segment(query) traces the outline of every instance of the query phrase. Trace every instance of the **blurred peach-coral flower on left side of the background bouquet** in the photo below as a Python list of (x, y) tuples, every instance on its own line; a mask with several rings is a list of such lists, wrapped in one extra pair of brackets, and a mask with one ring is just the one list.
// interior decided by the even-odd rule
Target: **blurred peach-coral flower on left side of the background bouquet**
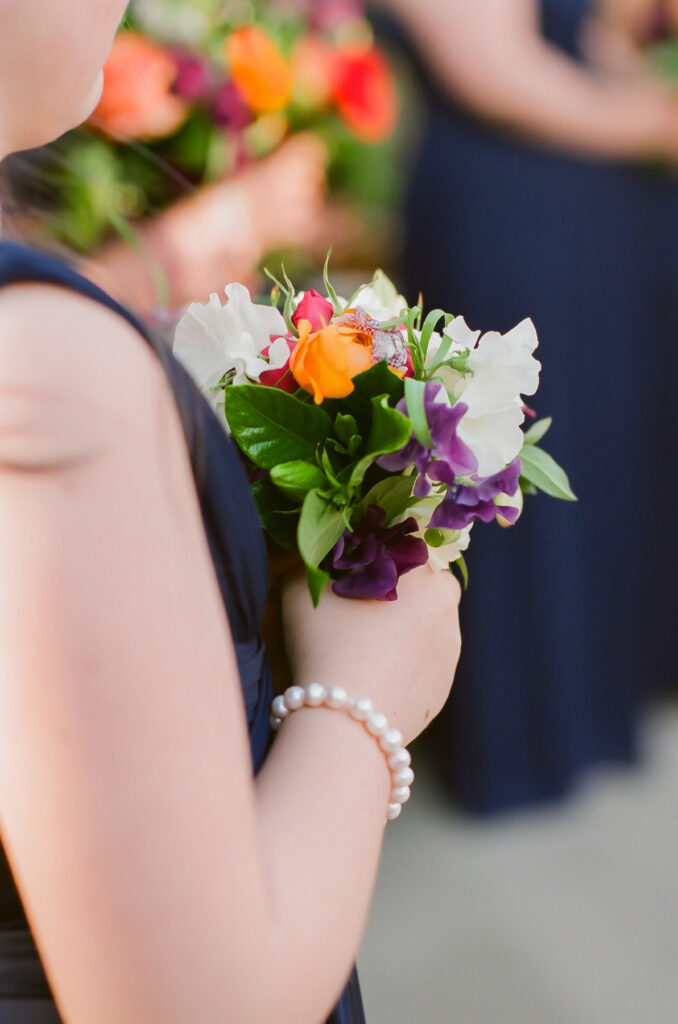
[(103, 68), (103, 92), (93, 124), (113, 136), (163, 138), (177, 130), (188, 104), (172, 93), (171, 53), (135, 32), (116, 37)]

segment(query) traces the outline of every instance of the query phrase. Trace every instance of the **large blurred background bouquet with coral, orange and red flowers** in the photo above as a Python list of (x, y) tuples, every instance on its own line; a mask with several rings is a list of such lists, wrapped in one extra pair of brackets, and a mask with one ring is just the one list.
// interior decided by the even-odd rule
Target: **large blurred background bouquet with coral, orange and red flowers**
[[(388, 63), (353, 0), (133, 0), (84, 127), (41, 160), (46, 233), (94, 252), (187, 190), (311, 131), (358, 191), (393, 132)], [(377, 155), (373, 159), (379, 159)]]

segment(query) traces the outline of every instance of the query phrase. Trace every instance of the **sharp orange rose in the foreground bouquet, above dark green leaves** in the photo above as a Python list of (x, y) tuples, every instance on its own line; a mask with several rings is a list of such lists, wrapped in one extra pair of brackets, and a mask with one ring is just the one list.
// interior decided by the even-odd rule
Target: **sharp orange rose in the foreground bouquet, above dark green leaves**
[(299, 341), (290, 357), (297, 383), (313, 396), (316, 406), (326, 398), (345, 398), (353, 390), (353, 377), (372, 366), (372, 342), (362, 331), (330, 324), (311, 332), (308, 321), (299, 321)]

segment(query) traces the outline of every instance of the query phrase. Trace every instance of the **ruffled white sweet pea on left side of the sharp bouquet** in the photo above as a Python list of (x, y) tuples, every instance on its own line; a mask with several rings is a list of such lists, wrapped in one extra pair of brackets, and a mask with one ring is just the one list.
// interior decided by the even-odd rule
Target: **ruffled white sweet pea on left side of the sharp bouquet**
[[(205, 304), (189, 305), (174, 335), (174, 354), (205, 392), (230, 371), (234, 384), (247, 384), (258, 381), (265, 370), (284, 367), (289, 357), (284, 341), (270, 342), (272, 336), (287, 334), (278, 309), (255, 305), (244, 285), (227, 285), (225, 293), (225, 305), (216, 294)], [(268, 345), (266, 360), (261, 352)]]

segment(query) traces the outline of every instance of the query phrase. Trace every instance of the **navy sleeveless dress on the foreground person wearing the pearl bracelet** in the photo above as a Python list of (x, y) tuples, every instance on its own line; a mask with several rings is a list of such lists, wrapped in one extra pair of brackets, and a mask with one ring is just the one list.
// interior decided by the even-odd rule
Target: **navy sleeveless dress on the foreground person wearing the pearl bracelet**
[[(163, 362), (181, 412), (205, 531), (236, 646), (256, 771), (268, 750), (273, 697), (270, 668), (258, 635), (266, 603), (268, 569), (263, 534), (238, 453), (169, 348), (162, 343), (154, 344), (149, 329), (129, 311), (57, 261), (10, 243), (0, 243), (0, 288), (19, 282), (59, 285), (101, 303), (131, 324), (146, 344), (153, 344)], [(224, 1024), (230, 1022), (227, 1007), (223, 1008), (221, 1020)], [(58, 1022), (0, 846), (0, 1024)], [(355, 972), (328, 1024), (365, 1024)]]

